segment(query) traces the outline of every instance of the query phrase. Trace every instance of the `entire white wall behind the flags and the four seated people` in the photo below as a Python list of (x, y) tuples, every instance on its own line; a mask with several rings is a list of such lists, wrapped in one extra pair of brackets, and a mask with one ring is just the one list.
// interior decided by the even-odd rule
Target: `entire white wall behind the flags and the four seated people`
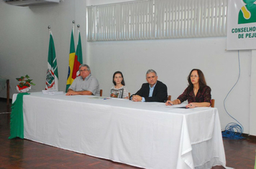
[[(122, 0), (125, 1), (125, 0)], [(108, 0), (107, 3), (121, 2)], [(86, 4), (104, 4), (106, 0), (64, 0), (60, 4), (18, 7), (0, 1), (0, 76), (10, 79), (11, 93), (16, 92), (15, 77), (29, 74), (37, 84), (31, 92), (45, 88), (49, 33), (52, 27), (58, 59), (59, 89), (65, 90), (72, 21), (81, 25), (83, 61), (91, 66), (104, 95), (109, 95), (116, 70), (124, 73), (131, 93), (145, 82), (147, 69), (155, 69), (158, 79), (168, 85), (175, 99), (187, 86), (186, 77), (193, 68), (201, 69), (211, 87), (219, 110), (221, 127), (234, 122), (223, 102), (238, 77), (237, 51), (226, 51), (226, 37), (200, 39), (165, 39), (128, 42), (86, 42)], [(240, 52), (241, 76), (227, 98), (229, 113), (250, 133), (250, 50)], [(6, 97), (5, 92), (0, 97)], [(251, 110), (252, 111), (252, 110)]]

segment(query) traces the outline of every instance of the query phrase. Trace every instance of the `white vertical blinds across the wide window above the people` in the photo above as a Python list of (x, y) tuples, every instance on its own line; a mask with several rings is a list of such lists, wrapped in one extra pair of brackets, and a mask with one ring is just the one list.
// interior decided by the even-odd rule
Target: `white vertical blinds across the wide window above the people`
[(224, 37), (227, 0), (147, 0), (88, 6), (88, 41)]

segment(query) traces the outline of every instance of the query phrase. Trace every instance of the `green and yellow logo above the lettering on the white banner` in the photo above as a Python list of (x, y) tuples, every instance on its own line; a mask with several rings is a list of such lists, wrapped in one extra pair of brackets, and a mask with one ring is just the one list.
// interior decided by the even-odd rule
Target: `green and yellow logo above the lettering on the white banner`
[(245, 5), (239, 11), (238, 24), (256, 22), (256, 1), (243, 0)]

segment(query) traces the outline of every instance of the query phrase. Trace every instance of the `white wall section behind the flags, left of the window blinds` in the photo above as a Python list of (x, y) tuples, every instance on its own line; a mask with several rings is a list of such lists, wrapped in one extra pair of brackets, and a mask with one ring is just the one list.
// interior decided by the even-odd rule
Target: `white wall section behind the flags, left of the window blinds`
[[(29, 7), (0, 1), (0, 14), (0, 76), (10, 79), (11, 94), (17, 92), (15, 78), (26, 74), (36, 84), (31, 92), (45, 89), (49, 25), (55, 42), (59, 88), (64, 90), (72, 21), (81, 25), (81, 34), (86, 37), (86, 1), (65, 0), (60, 4)], [(82, 39), (82, 45), (86, 51), (86, 39)], [(6, 97), (6, 92), (1, 92), (0, 97)]]

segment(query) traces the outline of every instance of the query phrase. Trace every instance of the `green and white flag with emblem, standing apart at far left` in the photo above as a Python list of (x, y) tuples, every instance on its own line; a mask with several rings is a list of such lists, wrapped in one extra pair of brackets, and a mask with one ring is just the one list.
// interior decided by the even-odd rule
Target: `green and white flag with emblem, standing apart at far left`
[(58, 91), (58, 67), (57, 67), (57, 59), (56, 59), (55, 47), (54, 47), (54, 42), (53, 42), (51, 31), (50, 31), (50, 42), (49, 42), (49, 51), (48, 51), (45, 90), (57, 90)]

